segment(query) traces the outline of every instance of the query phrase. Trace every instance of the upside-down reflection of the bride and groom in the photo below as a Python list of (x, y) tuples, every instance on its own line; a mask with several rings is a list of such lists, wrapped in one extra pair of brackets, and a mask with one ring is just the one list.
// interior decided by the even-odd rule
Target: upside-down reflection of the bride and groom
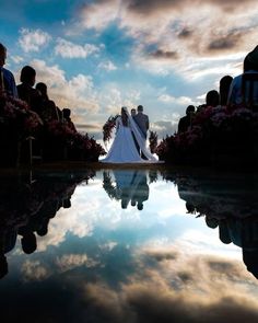
[(143, 204), (149, 199), (150, 181), (150, 173), (143, 170), (103, 172), (103, 188), (112, 199), (120, 200), (122, 209), (129, 205), (138, 210), (143, 209)]

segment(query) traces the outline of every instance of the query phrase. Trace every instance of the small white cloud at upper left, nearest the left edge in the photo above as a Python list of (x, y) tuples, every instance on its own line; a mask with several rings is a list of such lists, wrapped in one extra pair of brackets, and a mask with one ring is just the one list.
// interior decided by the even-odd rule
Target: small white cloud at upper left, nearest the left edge
[(39, 51), (51, 39), (51, 36), (42, 30), (21, 28), (20, 34), (19, 44), (25, 53)]

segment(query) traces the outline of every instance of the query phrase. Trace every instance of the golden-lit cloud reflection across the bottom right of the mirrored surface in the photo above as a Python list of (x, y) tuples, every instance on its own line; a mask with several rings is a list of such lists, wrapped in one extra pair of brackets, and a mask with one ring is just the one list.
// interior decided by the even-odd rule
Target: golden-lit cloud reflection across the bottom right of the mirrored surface
[[(136, 273), (114, 289), (105, 281), (84, 285), (96, 320), (107, 322), (215, 323), (257, 321), (257, 281), (239, 263), (174, 250), (140, 252)], [(243, 285), (244, 284), (244, 285)], [(93, 309), (98, 309), (96, 312)]]

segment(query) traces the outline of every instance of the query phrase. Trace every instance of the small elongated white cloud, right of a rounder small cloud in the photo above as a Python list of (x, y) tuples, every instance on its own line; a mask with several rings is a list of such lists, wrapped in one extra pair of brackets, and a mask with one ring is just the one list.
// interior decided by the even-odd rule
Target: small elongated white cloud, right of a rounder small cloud
[(99, 47), (95, 45), (85, 44), (81, 46), (62, 38), (57, 39), (57, 45), (55, 47), (55, 54), (63, 58), (86, 58), (89, 55), (98, 51)]

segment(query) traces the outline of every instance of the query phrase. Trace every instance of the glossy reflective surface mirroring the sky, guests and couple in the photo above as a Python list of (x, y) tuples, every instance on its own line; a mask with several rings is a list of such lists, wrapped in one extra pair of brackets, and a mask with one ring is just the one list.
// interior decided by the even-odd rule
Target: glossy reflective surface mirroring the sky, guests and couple
[(1, 322), (258, 322), (258, 176), (1, 175)]

